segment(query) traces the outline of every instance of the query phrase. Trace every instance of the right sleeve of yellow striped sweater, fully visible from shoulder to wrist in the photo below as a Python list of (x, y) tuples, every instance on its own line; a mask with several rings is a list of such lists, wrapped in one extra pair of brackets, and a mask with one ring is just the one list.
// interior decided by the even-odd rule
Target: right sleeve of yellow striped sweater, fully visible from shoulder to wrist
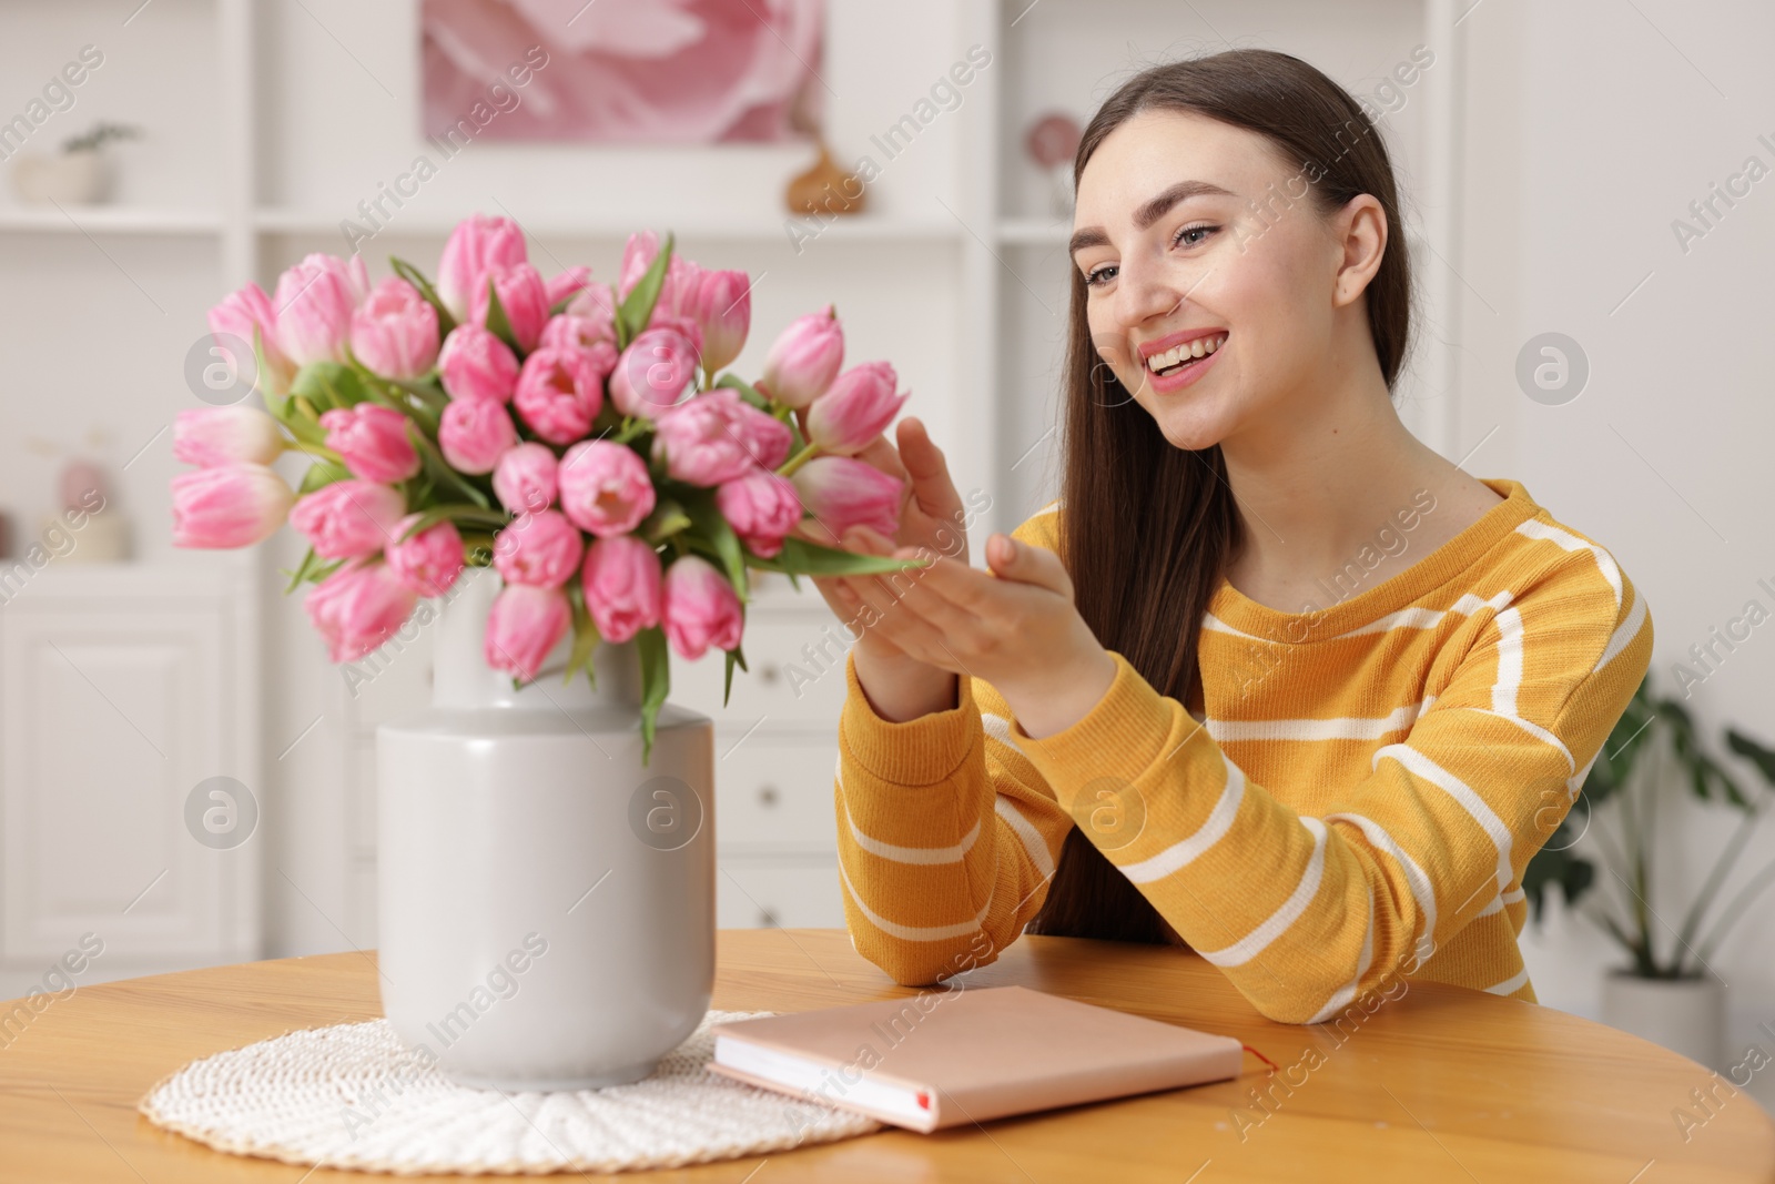
[[(1374, 751), (1367, 776), (1314, 793), (1328, 802), (1319, 817), (1248, 779), (1115, 651), (1115, 680), (1083, 719), (1040, 740), (1014, 722), (1010, 742), (1072, 817), (1081, 790), (1111, 786), (1136, 834), (1106, 843), (1081, 822), (1092, 841), (1258, 1012), (1321, 1022), (1519, 891), (1651, 644), (1645, 604), (1613, 559), (1566, 556), (1493, 596), (1443, 692)], [(1354, 738), (1363, 722), (1271, 728), (1278, 740)]]

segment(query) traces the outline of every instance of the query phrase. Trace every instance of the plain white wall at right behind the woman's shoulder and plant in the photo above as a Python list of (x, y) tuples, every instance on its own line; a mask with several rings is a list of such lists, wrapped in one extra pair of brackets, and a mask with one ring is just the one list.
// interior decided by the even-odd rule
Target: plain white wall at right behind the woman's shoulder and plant
[[(1471, 71), (1463, 451), (1496, 428), (1468, 470), (1523, 481), (1608, 547), (1647, 598), (1654, 687), (1672, 694), (1672, 664), (1708, 641), (1709, 627), (1750, 598), (1775, 607), (1757, 588), (1757, 579), (1775, 584), (1775, 405), (1763, 359), (1775, 320), (1775, 179), (1686, 254), (1670, 229), (1747, 156), (1775, 167), (1775, 151), (1755, 138), (1775, 140), (1763, 51), (1775, 12), (1724, 0), (1487, 0), (1463, 28)], [(1521, 344), (1548, 330), (1569, 334), (1590, 359), (1587, 389), (1564, 407), (1526, 399), (1514, 378)], [(1736, 726), (1775, 746), (1775, 628), (1755, 630), (1686, 705), (1709, 740)], [(1720, 744), (1713, 751), (1725, 756)], [(1747, 786), (1761, 785), (1738, 769)], [(1661, 827), (1670, 841), (1651, 900), (1670, 927), (1732, 820), (1674, 804), (1683, 808)], [(1743, 868), (1770, 857), (1775, 829), (1764, 825)], [(1740, 1049), (1775, 1015), (1771, 912), (1775, 896), (1713, 962)], [(1672, 928), (1660, 935), (1674, 941)], [(1525, 937), (1541, 999), (1594, 1015), (1599, 967), (1626, 959), (1562, 909)]]

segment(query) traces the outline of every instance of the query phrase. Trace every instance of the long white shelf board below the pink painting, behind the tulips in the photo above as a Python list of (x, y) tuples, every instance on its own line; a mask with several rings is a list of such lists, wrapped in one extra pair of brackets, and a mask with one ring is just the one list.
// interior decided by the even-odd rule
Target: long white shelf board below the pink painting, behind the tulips
[[(403, 217), (389, 222), (385, 233), (394, 236), (442, 238), (449, 234), (456, 222), (469, 217), (469, 213), (470, 211), (465, 209), (462, 215), (449, 218), (421, 215)], [(788, 225), (792, 218), (793, 215), (785, 211), (777, 218), (676, 222), (669, 229), (678, 238), (696, 238), (701, 241), (790, 241)], [(254, 211), (254, 229), (261, 234), (337, 234), (339, 222), (339, 217), (307, 209), (266, 206)], [(524, 220), (524, 229), (536, 238), (621, 240), (632, 231), (644, 229), (646, 225), (648, 222), (644, 218), (612, 220), (545, 215), (541, 218)], [(818, 229), (818, 238), (822, 241), (831, 238), (836, 241), (955, 243), (960, 241), (962, 233), (962, 227), (953, 220), (935, 222), (857, 215), (856, 218), (840, 217), (832, 220), (824, 229)]]

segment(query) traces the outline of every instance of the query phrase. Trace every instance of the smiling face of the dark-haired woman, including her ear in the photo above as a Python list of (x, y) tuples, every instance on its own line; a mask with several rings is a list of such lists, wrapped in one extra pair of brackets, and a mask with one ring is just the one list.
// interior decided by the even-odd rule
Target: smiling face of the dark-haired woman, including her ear
[(1326, 218), (1314, 179), (1264, 137), (1177, 110), (1132, 115), (1085, 165), (1072, 261), (1092, 343), (1173, 446), (1219, 444), (1324, 382), (1335, 316), (1372, 275), (1347, 266), (1351, 220), (1379, 202)]

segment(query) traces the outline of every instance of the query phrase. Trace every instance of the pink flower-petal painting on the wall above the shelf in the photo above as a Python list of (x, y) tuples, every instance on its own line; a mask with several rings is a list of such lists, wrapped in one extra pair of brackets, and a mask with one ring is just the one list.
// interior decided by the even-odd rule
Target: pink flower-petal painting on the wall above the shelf
[(825, 0), (422, 0), (431, 137), (790, 140), (820, 126)]

